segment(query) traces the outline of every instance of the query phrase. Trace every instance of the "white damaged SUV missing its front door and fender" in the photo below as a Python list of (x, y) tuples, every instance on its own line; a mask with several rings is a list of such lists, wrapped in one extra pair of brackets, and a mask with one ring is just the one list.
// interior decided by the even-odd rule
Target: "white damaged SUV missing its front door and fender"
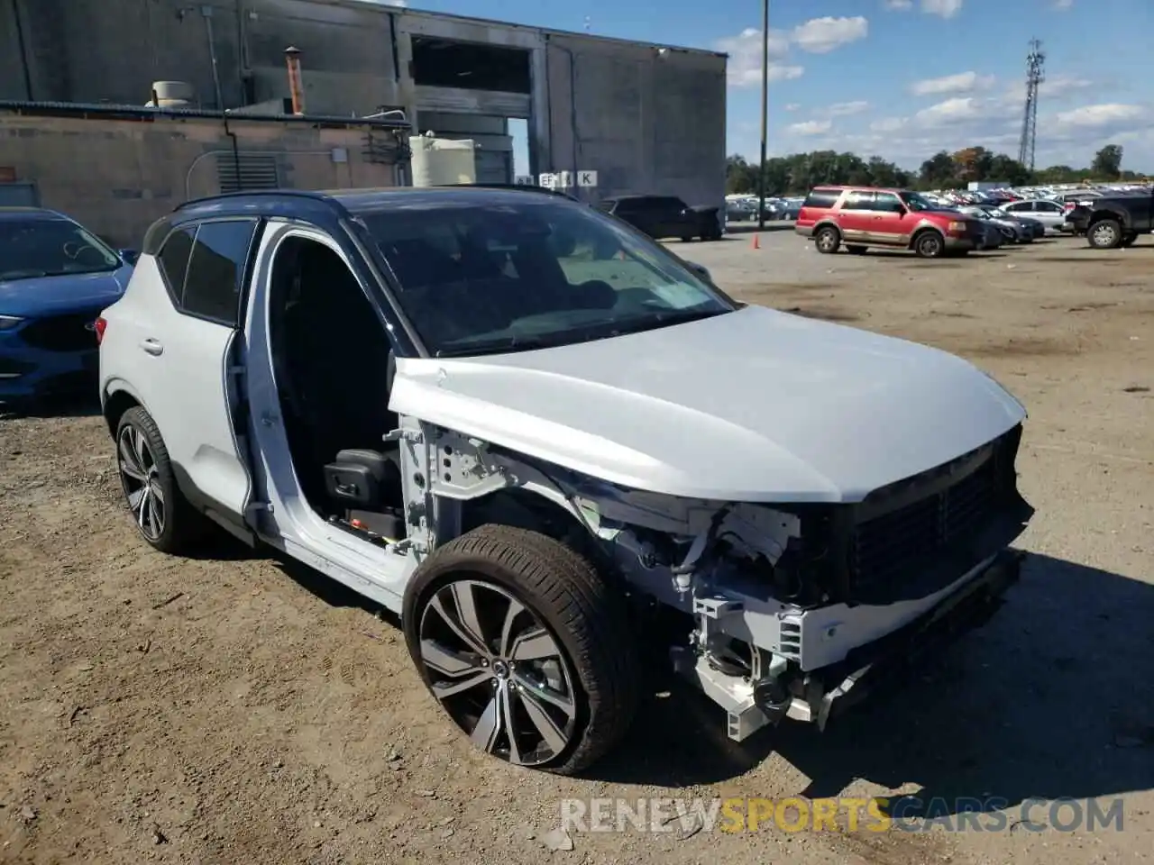
[(606, 753), (659, 639), (734, 739), (824, 727), (1018, 577), (1025, 411), (703, 273), (538, 191), (189, 202), (97, 325), (135, 524), (166, 552), (215, 524), (399, 614), (514, 764)]

